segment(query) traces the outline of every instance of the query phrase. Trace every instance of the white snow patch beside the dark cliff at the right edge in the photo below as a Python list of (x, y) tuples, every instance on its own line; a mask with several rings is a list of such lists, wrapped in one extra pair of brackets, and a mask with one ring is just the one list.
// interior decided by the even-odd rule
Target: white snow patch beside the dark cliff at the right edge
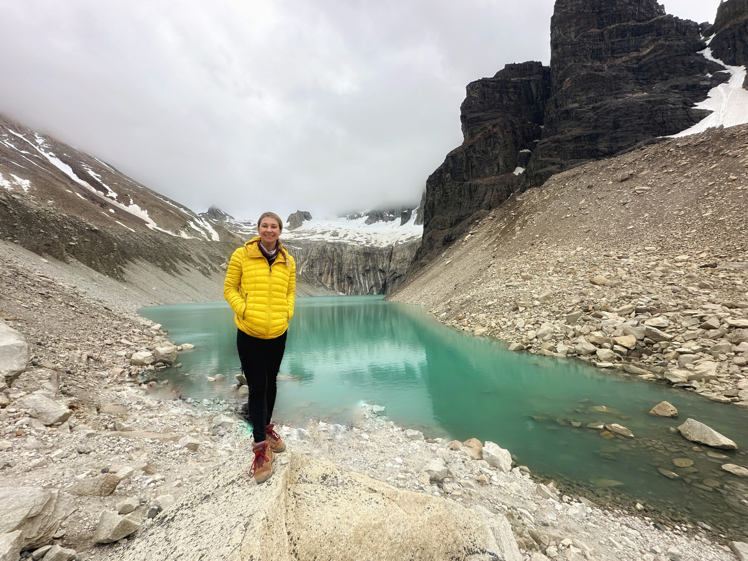
[(696, 135), (699, 132), (705, 132), (717, 126), (725, 128), (735, 125), (748, 123), (748, 91), (743, 88), (743, 82), (746, 78), (746, 67), (731, 67), (723, 63), (711, 54), (711, 49), (704, 49), (699, 54), (704, 55), (708, 61), (714, 61), (722, 64), (730, 73), (730, 79), (717, 88), (709, 91), (707, 99), (694, 105), (695, 108), (708, 109), (713, 111), (707, 117), (704, 117), (698, 123), (672, 135), (669, 138), (678, 138), (687, 135)]

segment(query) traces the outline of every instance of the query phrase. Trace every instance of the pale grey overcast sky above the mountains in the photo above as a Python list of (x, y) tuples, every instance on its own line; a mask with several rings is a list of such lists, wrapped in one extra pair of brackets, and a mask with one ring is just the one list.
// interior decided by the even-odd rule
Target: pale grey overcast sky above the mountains
[[(714, 21), (719, 0), (668, 0)], [(417, 203), (553, 0), (0, 0), (0, 111), (202, 212)]]

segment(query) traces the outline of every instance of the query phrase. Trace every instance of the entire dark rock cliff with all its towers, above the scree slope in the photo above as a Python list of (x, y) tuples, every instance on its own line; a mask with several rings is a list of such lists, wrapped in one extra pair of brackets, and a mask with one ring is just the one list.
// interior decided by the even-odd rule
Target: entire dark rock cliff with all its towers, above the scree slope
[[(744, 52), (747, 1), (720, 7), (715, 40), (724, 37), (736, 55)], [(654, 0), (557, 0), (550, 68), (509, 64), (468, 85), (465, 141), (426, 181), (423, 244), (411, 272), (512, 192), (702, 120), (708, 111), (693, 105), (729, 79), (699, 54), (706, 47), (699, 24)], [(515, 176), (515, 168), (526, 169)]]

